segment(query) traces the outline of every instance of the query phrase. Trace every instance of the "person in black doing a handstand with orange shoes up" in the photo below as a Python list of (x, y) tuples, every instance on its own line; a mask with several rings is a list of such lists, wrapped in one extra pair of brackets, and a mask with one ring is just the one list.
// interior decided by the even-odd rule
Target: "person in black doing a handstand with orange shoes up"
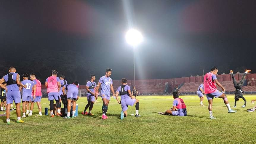
[(243, 78), (241, 79), (241, 81), (239, 83), (236, 82), (236, 79), (235, 79), (235, 77), (233, 75), (233, 71), (230, 70), (230, 72), (231, 72), (231, 76), (232, 76), (232, 79), (233, 79), (234, 87), (236, 88), (236, 92), (235, 92), (235, 105), (234, 105), (234, 107), (236, 107), (236, 101), (239, 101), (239, 99), (241, 98), (241, 99), (244, 100), (244, 105), (242, 105), (242, 108), (244, 108), (246, 106), (246, 99), (243, 96), (242, 87), (244, 85), (246, 74), (251, 72), (251, 70), (245, 70)]

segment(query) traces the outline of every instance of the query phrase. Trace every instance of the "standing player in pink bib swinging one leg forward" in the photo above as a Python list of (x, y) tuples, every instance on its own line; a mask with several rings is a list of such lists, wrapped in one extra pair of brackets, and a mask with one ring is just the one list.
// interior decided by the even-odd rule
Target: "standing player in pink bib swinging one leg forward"
[(224, 103), (226, 104), (227, 108), (228, 108), (228, 113), (235, 113), (236, 110), (232, 110), (230, 108), (230, 105), (228, 103), (228, 98), (226, 97), (226, 95), (224, 95), (222, 92), (220, 92), (219, 90), (217, 90), (217, 87), (215, 85), (215, 83), (222, 88), (222, 90), (225, 92), (225, 88), (219, 83), (219, 81), (217, 80), (216, 74), (218, 72), (218, 68), (213, 67), (211, 69), (211, 71), (209, 73), (206, 73), (204, 76), (204, 92), (206, 94), (209, 106), (208, 106), (208, 110), (210, 113), (210, 119), (216, 119), (215, 117), (213, 117), (212, 115), (212, 99), (215, 97), (219, 97), (219, 98), (223, 98)]

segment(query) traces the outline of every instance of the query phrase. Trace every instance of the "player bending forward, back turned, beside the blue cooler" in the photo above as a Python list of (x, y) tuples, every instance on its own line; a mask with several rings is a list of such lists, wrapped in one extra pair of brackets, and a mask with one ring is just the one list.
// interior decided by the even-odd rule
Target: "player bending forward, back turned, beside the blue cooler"
[(79, 82), (75, 81), (74, 84), (66, 84), (62, 88), (63, 95), (66, 95), (65, 89), (68, 90), (67, 92), (67, 99), (68, 99), (68, 114), (67, 118), (70, 119), (70, 111), (71, 111), (71, 102), (73, 103), (73, 111), (72, 111), (72, 118), (75, 117), (76, 110), (76, 100), (79, 99), (78, 95), (78, 87)]

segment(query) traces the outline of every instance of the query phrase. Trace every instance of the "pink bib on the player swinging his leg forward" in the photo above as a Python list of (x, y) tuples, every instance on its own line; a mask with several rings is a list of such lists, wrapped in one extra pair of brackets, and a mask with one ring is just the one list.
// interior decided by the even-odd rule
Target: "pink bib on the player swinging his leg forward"
[(217, 79), (215, 74), (213, 74), (211, 72), (205, 74), (205, 76), (204, 76), (204, 92), (206, 94), (215, 92), (217, 90), (214, 79)]

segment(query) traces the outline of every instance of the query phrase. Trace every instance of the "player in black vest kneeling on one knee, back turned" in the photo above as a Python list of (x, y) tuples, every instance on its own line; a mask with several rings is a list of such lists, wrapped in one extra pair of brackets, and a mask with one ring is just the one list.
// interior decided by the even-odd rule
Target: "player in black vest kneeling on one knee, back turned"
[[(128, 105), (133, 106), (135, 103), (135, 108), (136, 108), (136, 117), (140, 117), (139, 115), (139, 100), (134, 99), (131, 94), (131, 88), (130, 86), (127, 86), (127, 79), (122, 79), (122, 85), (118, 87), (116, 90), (116, 100), (119, 104), (121, 104), (122, 111), (121, 111), (121, 119), (124, 119), (124, 117), (127, 116), (127, 110), (128, 110)], [(118, 99), (118, 94), (120, 93), (121, 95), (121, 101)]]

